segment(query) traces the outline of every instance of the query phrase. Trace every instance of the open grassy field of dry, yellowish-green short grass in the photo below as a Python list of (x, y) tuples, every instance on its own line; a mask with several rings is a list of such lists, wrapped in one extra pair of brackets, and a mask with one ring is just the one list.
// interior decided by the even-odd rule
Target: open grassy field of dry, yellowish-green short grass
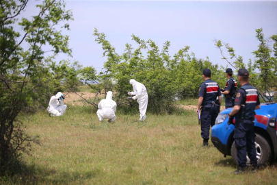
[(22, 116), (26, 132), (39, 136), (31, 173), (0, 184), (277, 184), (276, 166), (233, 175), (235, 164), (209, 143), (202, 147), (194, 111), (183, 115), (118, 112), (116, 123), (99, 123), (89, 106), (68, 106), (62, 117)]

